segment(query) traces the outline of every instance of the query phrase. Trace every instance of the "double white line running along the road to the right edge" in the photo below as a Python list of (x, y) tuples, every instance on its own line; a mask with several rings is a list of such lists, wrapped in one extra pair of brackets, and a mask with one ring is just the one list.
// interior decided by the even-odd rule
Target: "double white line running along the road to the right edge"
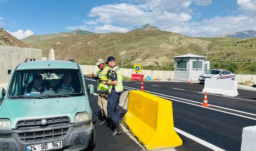
[[(126, 87), (126, 86), (124, 86), (124, 87)], [(127, 87), (127, 88), (131, 88), (131, 87)], [(139, 90), (139, 89), (136, 89), (136, 88), (131, 88), (131, 89), (128, 89), (128, 90), (132, 90), (132, 89)], [(149, 93), (155, 93), (155, 92), (150, 92), (149, 91)], [(199, 103), (199, 104), (202, 104), (201, 102), (196, 102), (196, 101), (187, 100), (187, 99), (183, 99), (183, 98), (168, 96), (168, 95), (164, 95), (164, 94), (160, 94), (160, 93), (155, 93), (155, 94), (158, 94), (158, 95), (155, 95), (155, 96), (158, 96), (158, 97), (161, 97), (161, 98), (170, 99), (170, 100), (173, 100), (173, 101), (178, 101), (178, 102), (182, 102), (182, 103), (186, 103), (186, 104), (190, 104), (190, 105), (194, 105), (194, 106), (199, 106), (199, 107), (203, 107), (203, 108), (207, 108), (207, 109), (211, 109), (211, 110), (215, 110), (215, 111), (219, 111), (219, 112), (223, 112), (223, 113), (228, 113), (228, 114), (232, 114), (232, 115), (236, 115), (236, 116), (240, 116), (240, 117), (245, 117), (245, 118), (256, 120), (256, 118), (252, 118), (252, 117), (248, 117), (248, 116), (244, 116), (244, 115), (239, 115), (239, 114), (235, 114), (235, 113), (230, 113), (230, 112), (226, 112), (226, 111), (222, 111), (222, 110), (218, 110), (218, 109), (214, 109), (214, 108), (209, 108), (209, 107), (205, 107), (205, 106), (201, 106), (201, 105), (197, 105), (197, 104), (192, 104), (192, 103), (188, 103), (188, 102), (183, 102), (183, 101), (175, 100), (175, 99), (171, 99), (171, 98), (177, 98), (177, 99), (181, 99), (181, 100), (185, 100), (185, 101), (190, 101), (190, 102), (194, 102), (194, 103)], [(163, 96), (167, 96), (167, 97), (171, 97), (171, 98), (167, 98), (167, 97), (163, 97), (163, 96), (159, 96), (159, 95), (163, 95)], [(209, 105), (211, 105), (211, 104), (209, 104)], [(215, 105), (211, 105), (211, 106), (215, 106)], [(236, 112), (240, 112), (240, 113), (255, 115), (256, 116), (256, 114), (253, 114), (253, 113), (233, 110), (233, 109), (224, 108), (224, 107), (220, 107), (220, 106), (215, 106), (215, 107), (223, 108), (223, 109), (227, 109), (227, 110), (232, 110), (232, 111), (236, 111)]]

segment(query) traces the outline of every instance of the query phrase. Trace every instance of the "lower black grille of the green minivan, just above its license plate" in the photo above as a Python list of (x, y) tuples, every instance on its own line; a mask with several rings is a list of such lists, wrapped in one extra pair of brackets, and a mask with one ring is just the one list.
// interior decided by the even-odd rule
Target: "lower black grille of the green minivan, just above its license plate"
[(39, 142), (61, 139), (68, 134), (68, 128), (30, 133), (19, 133), (19, 139), (24, 142)]

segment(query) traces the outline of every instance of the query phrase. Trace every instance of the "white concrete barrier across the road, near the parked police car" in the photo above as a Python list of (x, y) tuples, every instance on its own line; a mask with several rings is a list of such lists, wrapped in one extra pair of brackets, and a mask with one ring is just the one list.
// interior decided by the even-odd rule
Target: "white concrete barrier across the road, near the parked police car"
[(204, 88), (202, 92), (234, 97), (238, 95), (237, 81), (205, 79)]

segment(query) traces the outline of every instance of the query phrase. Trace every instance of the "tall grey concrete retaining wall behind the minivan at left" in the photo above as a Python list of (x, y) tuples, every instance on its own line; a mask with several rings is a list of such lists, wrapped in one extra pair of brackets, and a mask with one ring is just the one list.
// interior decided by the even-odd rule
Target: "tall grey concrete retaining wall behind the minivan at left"
[(17, 65), (26, 58), (42, 60), (42, 50), (12, 46), (0, 46), (0, 83), (8, 83), (10, 75)]

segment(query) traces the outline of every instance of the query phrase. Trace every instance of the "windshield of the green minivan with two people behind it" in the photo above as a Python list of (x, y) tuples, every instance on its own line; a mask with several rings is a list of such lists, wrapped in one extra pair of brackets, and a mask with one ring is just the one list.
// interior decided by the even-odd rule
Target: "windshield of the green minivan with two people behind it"
[(83, 94), (79, 70), (17, 70), (11, 81), (11, 98), (72, 97)]

